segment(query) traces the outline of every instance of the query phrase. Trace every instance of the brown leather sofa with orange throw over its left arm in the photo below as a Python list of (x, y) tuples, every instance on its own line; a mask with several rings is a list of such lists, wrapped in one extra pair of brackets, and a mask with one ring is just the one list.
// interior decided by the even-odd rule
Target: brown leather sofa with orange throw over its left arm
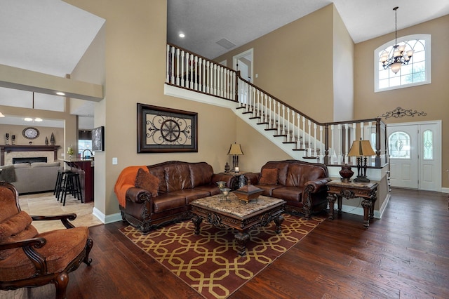
[(206, 162), (167, 161), (123, 169), (114, 191), (123, 220), (147, 234), (161, 225), (191, 218), (191, 201), (219, 194), (218, 181), (229, 187), (234, 180), (233, 175), (213, 173)]

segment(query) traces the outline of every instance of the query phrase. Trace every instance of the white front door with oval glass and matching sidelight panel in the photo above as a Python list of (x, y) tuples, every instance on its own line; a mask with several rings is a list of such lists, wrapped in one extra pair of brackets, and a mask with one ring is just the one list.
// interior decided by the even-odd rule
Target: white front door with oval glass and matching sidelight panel
[(441, 191), (441, 122), (387, 128), (391, 186)]

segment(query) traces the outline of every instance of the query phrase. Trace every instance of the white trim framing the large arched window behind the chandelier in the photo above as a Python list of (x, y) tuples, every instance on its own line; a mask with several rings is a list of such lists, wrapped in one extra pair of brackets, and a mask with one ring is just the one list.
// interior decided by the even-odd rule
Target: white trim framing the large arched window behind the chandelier
[(388, 41), (387, 43), (383, 44), (379, 48), (375, 49), (374, 51), (374, 92), (378, 93), (381, 91), (391, 91), (394, 89), (399, 88), (408, 88), (413, 86), (420, 86), (424, 84), (431, 84), (431, 34), (412, 34), (407, 36), (401, 36), (398, 37), (398, 44), (404, 41), (410, 41), (410, 40), (416, 40), (416, 39), (422, 39), (426, 41), (426, 79), (421, 82), (417, 83), (411, 83), (406, 85), (398, 85), (398, 86), (390, 86), (387, 88), (379, 88), (379, 54), (380, 52), (384, 51), (384, 49), (388, 48), (389, 46), (394, 45), (395, 40)]

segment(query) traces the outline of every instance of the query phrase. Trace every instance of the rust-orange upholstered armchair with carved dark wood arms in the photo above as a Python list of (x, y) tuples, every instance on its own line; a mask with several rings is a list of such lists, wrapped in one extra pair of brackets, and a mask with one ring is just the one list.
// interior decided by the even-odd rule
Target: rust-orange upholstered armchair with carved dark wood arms
[[(56, 298), (65, 298), (69, 272), (92, 262), (88, 227), (69, 222), (76, 214), (30, 216), (18, 200), (15, 187), (0, 182), (0, 289), (55, 284)], [(61, 220), (67, 229), (39, 234), (33, 220)]]

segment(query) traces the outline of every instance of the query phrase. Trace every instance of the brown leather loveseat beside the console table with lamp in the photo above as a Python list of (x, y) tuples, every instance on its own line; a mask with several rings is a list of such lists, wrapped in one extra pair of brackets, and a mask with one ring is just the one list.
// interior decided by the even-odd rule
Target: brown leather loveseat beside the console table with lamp
[(312, 212), (327, 207), (328, 168), (324, 164), (299, 160), (269, 161), (260, 173), (247, 173), (250, 184), (264, 190), (262, 195), (287, 201), (287, 213)]

